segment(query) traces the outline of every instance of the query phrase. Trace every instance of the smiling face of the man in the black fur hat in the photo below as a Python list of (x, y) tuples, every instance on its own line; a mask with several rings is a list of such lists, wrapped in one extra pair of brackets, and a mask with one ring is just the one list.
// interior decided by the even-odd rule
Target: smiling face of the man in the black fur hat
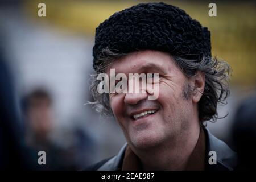
[[(159, 73), (159, 96), (148, 100), (148, 93), (110, 93), (110, 106), (127, 142), (133, 147), (148, 148), (183, 136), (189, 128), (192, 99), (184, 99), (188, 78), (168, 53), (160, 51), (133, 52), (115, 61), (110, 68), (115, 74)], [(110, 73), (110, 69), (106, 72)], [(141, 88), (144, 89), (144, 88)], [(155, 90), (157, 92), (157, 90)], [(148, 114), (134, 119), (135, 114)], [(145, 113), (144, 113), (145, 114)]]

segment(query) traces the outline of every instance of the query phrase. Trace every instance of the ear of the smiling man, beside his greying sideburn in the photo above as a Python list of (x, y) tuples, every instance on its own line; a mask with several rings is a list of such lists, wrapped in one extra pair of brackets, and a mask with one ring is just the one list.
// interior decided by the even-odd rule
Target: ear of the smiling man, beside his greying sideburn
[(192, 94), (192, 100), (193, 102), (197, 103), (200, 101), (200, 98), (202, 97), (204, 93), (204, 86), (205, 86), (205, 75), (203, 72), (199, 71), (197, 72), (196, 77), (193, 77), (193, 94)]

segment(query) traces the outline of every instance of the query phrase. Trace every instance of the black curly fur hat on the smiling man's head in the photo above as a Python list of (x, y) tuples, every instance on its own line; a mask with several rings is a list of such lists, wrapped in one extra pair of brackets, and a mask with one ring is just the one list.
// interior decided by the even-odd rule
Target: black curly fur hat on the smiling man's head
[(166, 3), (140, 3), (119, 11), (96, 28), (93, 68), (104, 48), (114, 53), (151, 49), (185, 59), (211, 55), (210, 31), (179, 7)]

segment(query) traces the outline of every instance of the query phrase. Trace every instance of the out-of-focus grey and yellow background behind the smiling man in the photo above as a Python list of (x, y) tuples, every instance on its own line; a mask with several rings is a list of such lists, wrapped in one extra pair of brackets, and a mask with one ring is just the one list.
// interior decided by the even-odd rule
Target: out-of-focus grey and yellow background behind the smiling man
[[(38, 4), (46, 4), (46, 17)], [(12, 82), (14, 107), (28, 146), (46, 151), (46, 169), (83, 169), (117, 154), (125, 143), (113, 118), (102, 118), (92, 101), (89, 78), (96, 27), (116, 11), (150, 1), (1, 1), (0, 48)], [(152, 2), (152, 1), (151, 1)], [(233, 146), (231, 128), (238, 106), (256, 93), (256, 6), (253, 1), (162, 1), (179, 6), (211, 31), (212, 55), (233, 68), (228, 104), (218, 107), (208, 128)], [(9, 93), (9, 92), (8, 92)], [(0, 108), (2, 109), (2, 108)], [(10, 109), (10, 108), (9, 108)], [(7, 108), (8, 110), (8, 108)], [(14, 132), (14, 131), (13, 131)], [(32, 155), (32, 154), (31, 154)]]

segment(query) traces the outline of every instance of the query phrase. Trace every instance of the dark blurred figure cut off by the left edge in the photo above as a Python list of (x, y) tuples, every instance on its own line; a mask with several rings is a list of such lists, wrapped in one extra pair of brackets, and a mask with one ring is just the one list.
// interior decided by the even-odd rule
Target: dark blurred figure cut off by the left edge
[(37, 156), (25, 143), (13, 74), (7, 63), (0, 47), (0, 169), (36, 169)]

